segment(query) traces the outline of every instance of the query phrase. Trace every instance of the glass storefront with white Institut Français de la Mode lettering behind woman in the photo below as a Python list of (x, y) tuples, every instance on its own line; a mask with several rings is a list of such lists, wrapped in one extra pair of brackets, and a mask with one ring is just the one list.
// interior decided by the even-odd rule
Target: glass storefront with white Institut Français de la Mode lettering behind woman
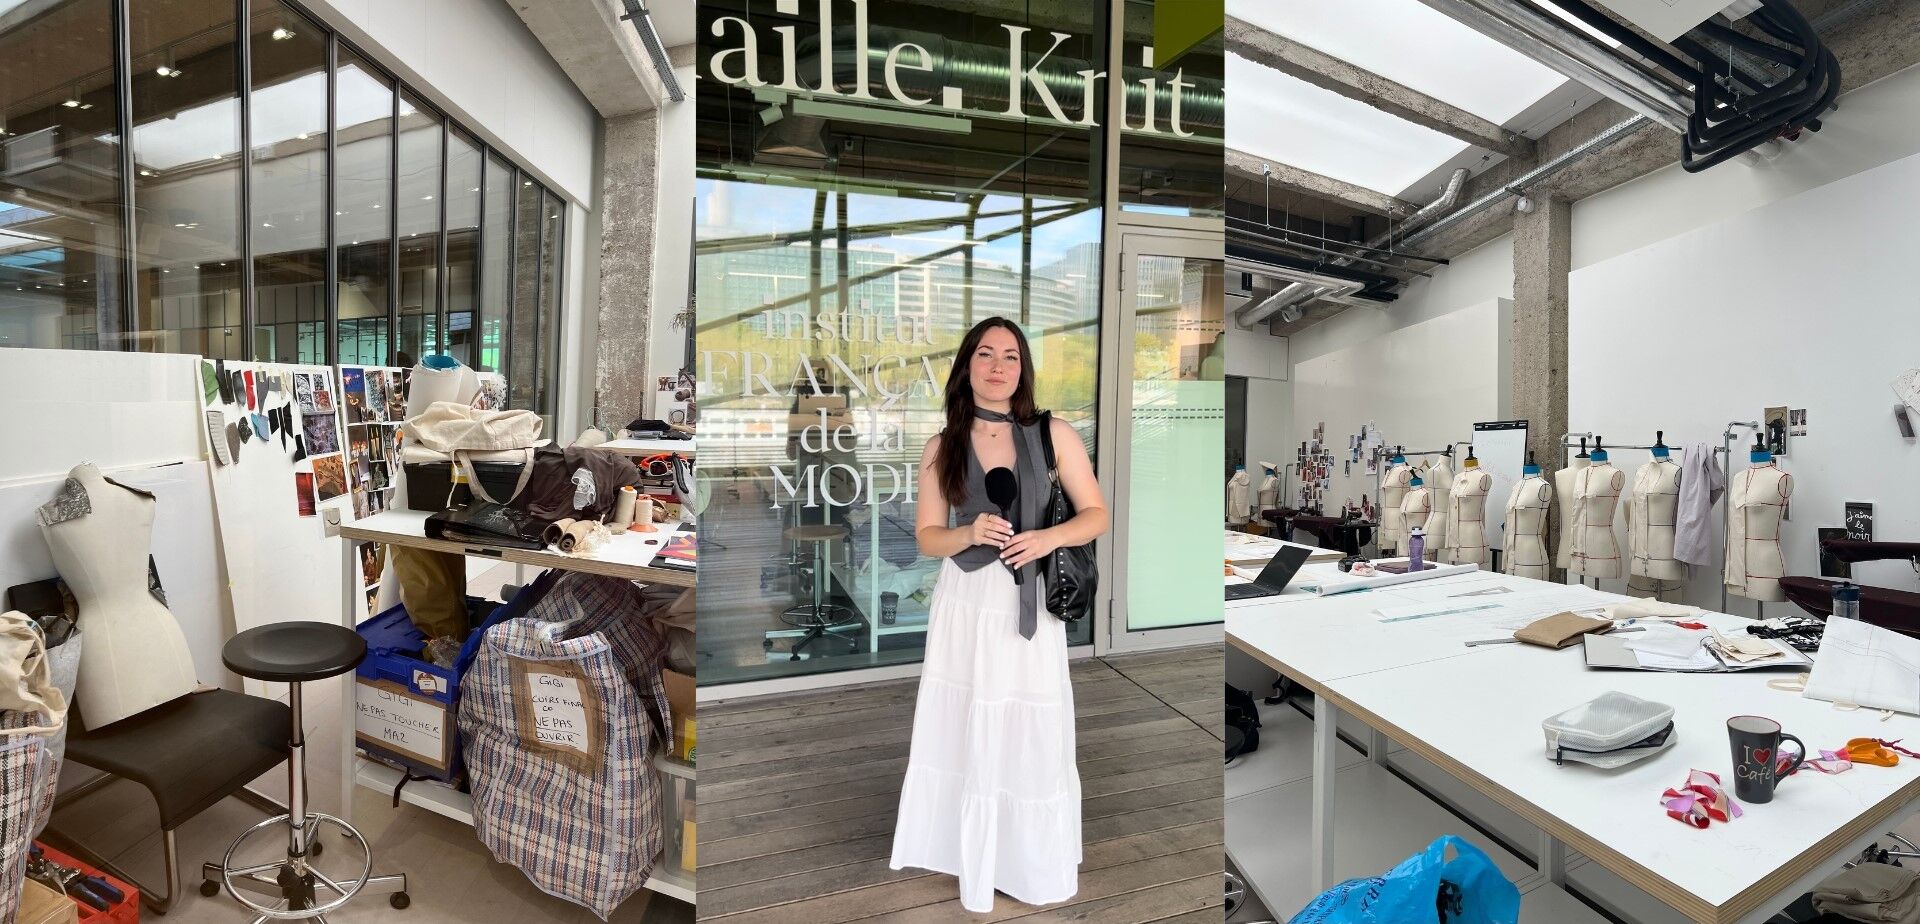
[[(1102, 96), (1075, 73), (1104, 67), (1104, 15), (852, 10), (701, 4), (703, 684), (920, 661), (916, 469), (975, 321), (1027, 330), (1041, 407), (1094, 446)], [(1010, 42), (1035, 67), (1012, 102)]]

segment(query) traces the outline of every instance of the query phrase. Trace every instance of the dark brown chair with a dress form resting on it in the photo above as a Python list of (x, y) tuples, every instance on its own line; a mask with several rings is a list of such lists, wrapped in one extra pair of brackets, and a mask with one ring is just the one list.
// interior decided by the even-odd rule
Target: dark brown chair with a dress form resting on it
[[(154, 912), (173, 907), (175, 886), (180, 880), (180, 857), (175, 832), (188, 818), (234, 795), (261, 811), (284, 813), (286, 807), (246, 788), (267, 770), (286, 761), (288, 709), (273, 699), (209, 690), (182, 695), (171, 703), (121, 718), (104, 728), (81, 730), (75, 722), (67, 732), (67, 761), (100, 770), (77, 790), (54, 803), (54, 824), (48, 839), (129, 882), (140, 889), (140, 901)], [(132, 780), (154, 795), (159, 809), (159, 838), (165, 853), (167, 888), (156, 891), (140, 884), (106, 857), (60, 834), (60, 809), (73, 805), (113, 780)]]

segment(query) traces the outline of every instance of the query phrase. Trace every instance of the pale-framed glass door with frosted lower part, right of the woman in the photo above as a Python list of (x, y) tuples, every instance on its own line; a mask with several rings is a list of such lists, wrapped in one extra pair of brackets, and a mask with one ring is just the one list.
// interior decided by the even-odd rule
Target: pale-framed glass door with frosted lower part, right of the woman
[(1108, 559), (1106, 651), (1221, 638), (1227, 457), (1225, 259), (1217, 234), (1129, 231), (1108, 371), (1121, 503)]

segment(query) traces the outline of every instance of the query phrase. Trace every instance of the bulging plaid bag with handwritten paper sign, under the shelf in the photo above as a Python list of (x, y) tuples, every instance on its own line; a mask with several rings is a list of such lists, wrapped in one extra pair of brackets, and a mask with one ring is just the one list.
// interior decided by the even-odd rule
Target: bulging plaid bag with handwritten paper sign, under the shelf
[[(626, 609), (636, 599), (628, 580), (568, 574), (526, 617), (490, 628), (461, 682), (480, 841), (603, 920), (647, 884), (662, 841), (649, 707), (666, 701), (664, 642)], [(580, 747), (543, 738), (555, 678), (578, 686), (559, 722)]]

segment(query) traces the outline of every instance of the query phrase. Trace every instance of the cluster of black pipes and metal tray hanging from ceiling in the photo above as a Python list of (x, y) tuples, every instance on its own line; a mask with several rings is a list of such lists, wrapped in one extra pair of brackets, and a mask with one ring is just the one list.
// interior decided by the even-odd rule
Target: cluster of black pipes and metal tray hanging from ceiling
[(1624, 52), (1538, 2), (1421, 2), (1678, 133), (1688, 171), (1797, 138), (1803, 129), (1820, 131), (1820, 115), (1839, 96), (1839, 61), (1791, 0), (1757, 0), (1747, 31), (1715, 17), (1672, 44), (1647, 38), (1586, 0), (1551, 0)]

